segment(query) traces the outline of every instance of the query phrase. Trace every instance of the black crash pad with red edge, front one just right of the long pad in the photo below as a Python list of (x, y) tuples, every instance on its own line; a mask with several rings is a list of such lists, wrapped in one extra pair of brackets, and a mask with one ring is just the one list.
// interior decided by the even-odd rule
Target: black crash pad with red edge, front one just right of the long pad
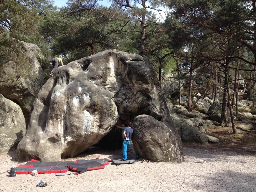
[(86, 171), (92, 171), (92, 170), (97, 170), (97, 169), (104, 169), (105, 165), (97, 162), (97, 161), (90, 161), (87, 163), (79, 164), (79, 163), (68, 163), (67, 167), (75, 171), (75, 175), (78, 175), (79, 173), (84, 173)]

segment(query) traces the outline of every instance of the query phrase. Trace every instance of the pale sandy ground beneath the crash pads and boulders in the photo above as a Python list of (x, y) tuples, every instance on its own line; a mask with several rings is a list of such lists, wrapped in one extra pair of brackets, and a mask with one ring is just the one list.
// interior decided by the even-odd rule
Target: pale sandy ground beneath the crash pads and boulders
[[(8, 177), (11, 167), (25, 164), (16, 160), (15, 152), (0, 154), (0, 191), (256, 191), (256, 153), (230, 151), (228, 148), (184, 146), (185, 162), (140, 163), (107, 165), (105, 169), (79, 175), (52, 174), (17, 175)], [(121, 156), (121, 150), (106, 151), (90, 148), (74, 159), (112, 158)], [(131, 146), (129, 156), (136, 158)], [(205, 163), (194, 163), (204, 160)], [(3, 173), (4, 172), (4, 173)], [(36, 187), (39, 180), (48, 185)]]

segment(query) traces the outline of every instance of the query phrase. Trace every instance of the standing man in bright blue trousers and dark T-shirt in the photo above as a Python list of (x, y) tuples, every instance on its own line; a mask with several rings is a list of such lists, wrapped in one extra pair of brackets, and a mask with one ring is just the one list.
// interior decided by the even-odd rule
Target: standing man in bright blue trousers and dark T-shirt
[(127, 152), (130, 147), (131, 139), (132, 139), (132, 122), (129, 122), (128, 127), (125, 127), (124, 129), (124, 139), (123, 139), (123, 160), (127, 160)]

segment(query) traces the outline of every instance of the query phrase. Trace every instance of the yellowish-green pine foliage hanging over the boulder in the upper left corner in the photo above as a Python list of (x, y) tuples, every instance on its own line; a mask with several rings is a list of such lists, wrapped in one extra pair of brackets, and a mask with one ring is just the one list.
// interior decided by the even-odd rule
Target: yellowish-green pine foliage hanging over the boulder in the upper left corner
[[(51, 4), (49, 0), (4, 0), (0, 3), (0, 70), (3, 81), (11, 84), (18, 79), (33, 78), (30, 74), (33, 72), (29, 70), (30, 62), (18, 40), (37, 44), (44, 53), (49, 53), (39, 28), (45, 10), (53, 8)], [(44, 60), (43, 57), (40, 59)], [(8, 61), (14, 62), (12, 66), (15, 70), (6, 70), (9, 66), (5, 63)], [(8, 79), (4, 79), (5, 75), (8, 75)]]

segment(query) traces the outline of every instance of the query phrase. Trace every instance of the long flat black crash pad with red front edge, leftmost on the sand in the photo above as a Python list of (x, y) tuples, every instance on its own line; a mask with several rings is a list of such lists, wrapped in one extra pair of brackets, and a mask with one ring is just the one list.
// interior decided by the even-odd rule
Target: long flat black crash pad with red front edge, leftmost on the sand
[(48, 167), (16, 167), (16, 174), (30, 174), (33, 170), (37, 170), (38, 174), (42, 173), (65, 173), (68, 168), (65, 166), (48, 166)]

